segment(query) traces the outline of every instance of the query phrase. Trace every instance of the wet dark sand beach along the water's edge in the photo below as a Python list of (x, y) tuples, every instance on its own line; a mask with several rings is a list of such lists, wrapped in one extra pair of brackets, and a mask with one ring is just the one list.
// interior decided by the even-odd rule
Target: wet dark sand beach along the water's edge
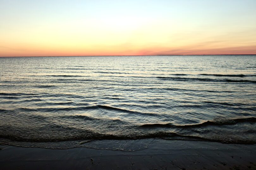
[(0, 169), (256, 169), (256, 144), (145, 141), (149, 145), (135, 151), (0, 145)]

